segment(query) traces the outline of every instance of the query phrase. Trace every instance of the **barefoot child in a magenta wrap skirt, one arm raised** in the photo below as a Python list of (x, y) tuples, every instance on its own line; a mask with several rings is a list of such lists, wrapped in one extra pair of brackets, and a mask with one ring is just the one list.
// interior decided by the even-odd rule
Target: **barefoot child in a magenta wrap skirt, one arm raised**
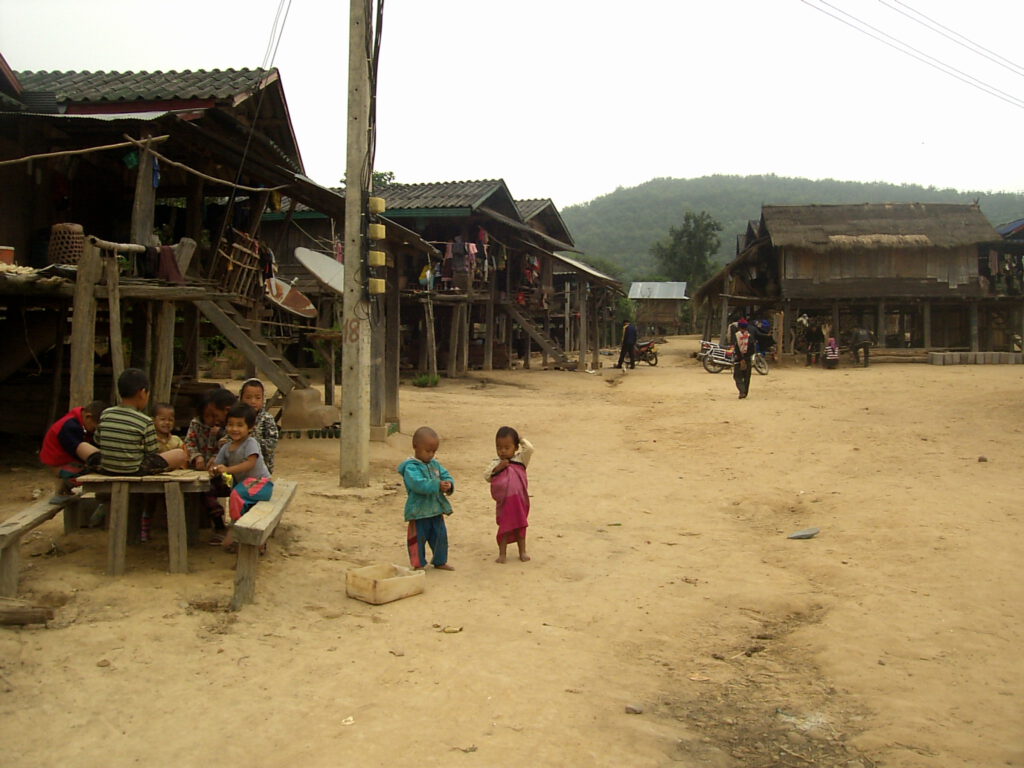
[(490, 498), (496, 502), (495, 522), (498, 523), (498, 559), (505, 562), (506, 550), (511, 542), (519, 548), (519, 559), (529, 560), (526, 554), (526, 520), (529, 517), (529, 488), (526, 483), (526, 465), (534, 456), (529, 440), (519, 437), (512, 427), (502, 427), (495, 435), (498, 458), (492, 460), (485, 476), (490, 482)]

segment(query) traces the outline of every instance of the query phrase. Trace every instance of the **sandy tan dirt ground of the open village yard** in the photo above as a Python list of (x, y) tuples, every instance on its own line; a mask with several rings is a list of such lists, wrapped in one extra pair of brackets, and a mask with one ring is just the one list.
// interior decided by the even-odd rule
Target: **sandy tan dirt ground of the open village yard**
[[(782, 368), (739, 401), (693, 348), (403, 388), (367, 489), (338, 487), (336, 441), (283, 441), (300, 492), (239, 613), (219, 550), (171, 575), (158, 531), (114, 580), (100, 532), (47, 523), (20, 595), (60, 607), (0, 628), (0, 761), (1024, 765), (1024, 368)], [(498, 565), (479, 474), (506, 423), (537, 446), (534, 559)], [(457, 570), (350, 600), (347, 568), (404, 561), (393, 468), (421, 424)], [(43, 485), (0, 471), (0, 518)]]

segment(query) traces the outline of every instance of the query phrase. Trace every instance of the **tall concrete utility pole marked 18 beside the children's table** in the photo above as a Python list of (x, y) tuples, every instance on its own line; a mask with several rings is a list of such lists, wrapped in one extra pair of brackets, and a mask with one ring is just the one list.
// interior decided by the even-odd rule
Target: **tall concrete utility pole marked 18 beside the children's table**
[(343, 487), (370, 484), (370, 302), (366, 212), (370, 163), (370, 59), (367, 0), (349, 0), (348, 120), (345, 164), (345, 294), (342, 309), (341, 473)]

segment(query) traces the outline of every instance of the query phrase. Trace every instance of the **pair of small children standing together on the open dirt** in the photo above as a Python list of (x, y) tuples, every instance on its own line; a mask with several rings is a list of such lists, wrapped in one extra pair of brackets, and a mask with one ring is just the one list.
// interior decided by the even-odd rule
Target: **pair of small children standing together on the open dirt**
[[(437, 461), (440, 437), (430, 427), (413, 433), (413, 457), (398, 465), (406, 484), (406, 520), (409, 560), (422, 570), (427, 566), (426, 547), (430, 545), (430, 564), (439, 570), (455, 570), (447, 561), (447, 528), (444, 517), (452, 514), (449, 497), (455, 493), (455, 479)], [(498, 559), (506, 561), (508, 545), (513, 542), (519, 559), (526, 554), (526, 527), (529, 525), (529, 487), (526, 467), (534, 446), (512, 427), (502, 427), (495, 435), (497, 457), (483, 473), (495, 500), (498, 525)]]

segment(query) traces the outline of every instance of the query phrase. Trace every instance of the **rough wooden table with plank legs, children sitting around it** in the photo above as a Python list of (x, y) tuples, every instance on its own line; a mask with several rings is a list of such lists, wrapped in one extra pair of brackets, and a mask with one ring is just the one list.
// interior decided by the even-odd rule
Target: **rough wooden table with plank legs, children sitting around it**
[(110, 496), (110, 525), (106, 545), (106, 573), (125, 572), (128, 546), (128, 499), (132, 494), (163, 494), (167, 504), (167, 549), (172, 573), (188, 572), (188, 534), (185, 524), (184, 494), (210, 489), (210, 475), (193, 469), (176, 469), (160, 475), (88, 474), (77, 478), (96, 496)]

